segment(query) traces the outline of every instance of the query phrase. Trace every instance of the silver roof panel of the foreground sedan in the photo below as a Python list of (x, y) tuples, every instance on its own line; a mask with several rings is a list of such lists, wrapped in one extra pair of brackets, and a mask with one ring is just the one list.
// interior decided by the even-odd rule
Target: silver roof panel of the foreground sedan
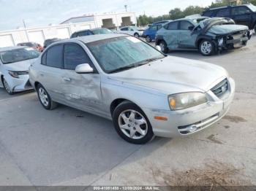
[[(129, 35), (127, 34), (95, 34), (95, 35), (88, 35), (88, 36), (79, 36), (73, 39), (61, 40), (61, 43), (72, 42), (73, 40), (79, 40), (83, 43), (89, 43), (89, 42), (95, 42), (99, 40), (111, 39), (111, 38), (121, 37), (121, 36), (129, 36)], [(58, 43), (60, 42), (55, 42), (54, 44), (58, 44)]]

